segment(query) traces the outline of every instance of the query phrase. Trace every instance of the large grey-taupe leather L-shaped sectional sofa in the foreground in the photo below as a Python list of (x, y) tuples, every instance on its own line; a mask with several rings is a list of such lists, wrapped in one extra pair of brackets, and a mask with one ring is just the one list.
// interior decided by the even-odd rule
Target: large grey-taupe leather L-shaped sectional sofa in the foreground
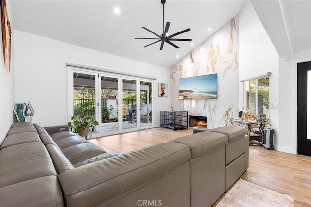
[(118, 153), (66, 125), (12, 124), (0, 150), (0, 205), (210, 206), (247, 170), (247, 131), (194, 132)]

